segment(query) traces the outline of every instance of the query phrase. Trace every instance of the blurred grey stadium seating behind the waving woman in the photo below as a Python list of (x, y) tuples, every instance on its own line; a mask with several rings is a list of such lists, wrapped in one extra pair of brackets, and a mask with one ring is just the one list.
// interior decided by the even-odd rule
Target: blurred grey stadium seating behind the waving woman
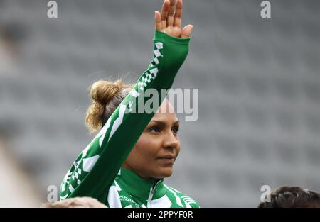
[[(199, 89), (171, 187), (202, 207), (256, 207), (260, 188), (320, 192), (320, 1), (184, 0), (194, 25), (173, 88)], [(161, 0), (0, 0), (0, 206), (39, 206), (92, 140), (88, 87), (135, 82)]]

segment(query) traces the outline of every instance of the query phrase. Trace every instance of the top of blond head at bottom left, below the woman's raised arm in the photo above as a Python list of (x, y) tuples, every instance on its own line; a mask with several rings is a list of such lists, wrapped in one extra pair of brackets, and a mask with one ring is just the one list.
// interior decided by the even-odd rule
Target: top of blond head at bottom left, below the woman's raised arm
[(105, 204), (100, 203), (91, 197), (75, 197), (63, 201), (55, 201), (44, 205), (46, 208), (106, 208)]

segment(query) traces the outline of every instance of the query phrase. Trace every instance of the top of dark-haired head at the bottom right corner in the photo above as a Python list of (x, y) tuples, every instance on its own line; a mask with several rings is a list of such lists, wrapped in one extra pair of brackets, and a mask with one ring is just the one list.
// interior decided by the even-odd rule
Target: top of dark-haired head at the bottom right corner
[(320, 194), (300, 187), (279, 187), (272, 192), (270, 202), (262, 202), (258, 208), (318, 208)]

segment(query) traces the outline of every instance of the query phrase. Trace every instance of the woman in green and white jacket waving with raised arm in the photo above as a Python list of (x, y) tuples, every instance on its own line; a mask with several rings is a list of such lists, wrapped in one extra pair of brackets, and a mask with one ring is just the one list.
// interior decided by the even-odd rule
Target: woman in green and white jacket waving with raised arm
[(147, 89), (160, 94), (171, 88), (188, 54), (193, 28), (181, 29), (181, 15), (182, 0), (165, 0), (161, 12), (155, 12), (154, 59), (137, 84), (92, 84), (85, 123), (99, 133), (65, 175), (61, 199), (90, 196), (108, 207), (199, 207), (164, 184), (180, 151), (179, 123), (169, 101), (159, 98), (155, 114), (132, 111), (145, 103)]

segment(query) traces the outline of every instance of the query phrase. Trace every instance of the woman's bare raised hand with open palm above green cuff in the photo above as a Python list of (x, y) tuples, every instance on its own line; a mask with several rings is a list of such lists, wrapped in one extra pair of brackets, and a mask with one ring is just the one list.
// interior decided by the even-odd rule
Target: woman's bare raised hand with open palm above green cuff
[(156, 30), (177, 38), (190, 38), (193, 25), (181, 28), (182, 0), (164, 0), (161, 12), (155, 11)]

